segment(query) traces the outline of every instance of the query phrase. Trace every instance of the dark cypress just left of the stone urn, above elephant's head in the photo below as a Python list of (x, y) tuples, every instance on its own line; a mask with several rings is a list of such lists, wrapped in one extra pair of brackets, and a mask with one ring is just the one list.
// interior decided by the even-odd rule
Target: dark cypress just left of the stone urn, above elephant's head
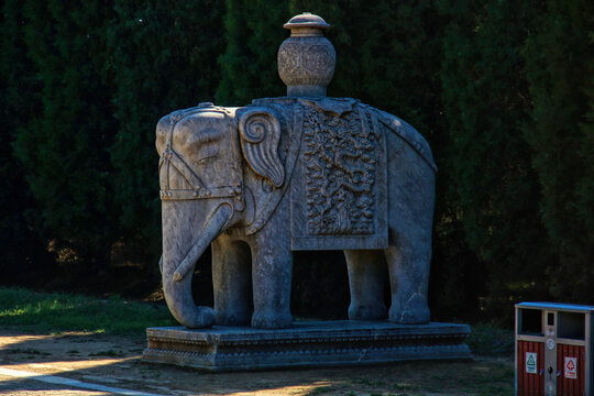
[(279, 97), (286, 88), (278, 77), (276, 53), (287, 37), (286, 0), (227, 0), (227, 48), (220, 57), (221, 80), (217, 103), (248, 105), (254, 98)]

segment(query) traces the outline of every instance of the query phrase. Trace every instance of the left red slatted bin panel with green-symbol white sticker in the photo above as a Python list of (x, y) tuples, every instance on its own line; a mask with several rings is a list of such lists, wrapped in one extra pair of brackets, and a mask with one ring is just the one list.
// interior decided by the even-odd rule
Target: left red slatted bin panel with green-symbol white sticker
[(518, 396), (543, 396), (544, 343), (518, 341)]

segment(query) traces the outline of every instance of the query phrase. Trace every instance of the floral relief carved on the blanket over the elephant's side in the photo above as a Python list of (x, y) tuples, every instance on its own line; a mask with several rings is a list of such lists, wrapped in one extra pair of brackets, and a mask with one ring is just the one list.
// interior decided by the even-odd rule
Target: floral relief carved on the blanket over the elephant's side
[[(366, 116), (365, 116), (366, 117)], [(360, 112), (305, 107), (309, 234), (373, 234), (377, 140)]]

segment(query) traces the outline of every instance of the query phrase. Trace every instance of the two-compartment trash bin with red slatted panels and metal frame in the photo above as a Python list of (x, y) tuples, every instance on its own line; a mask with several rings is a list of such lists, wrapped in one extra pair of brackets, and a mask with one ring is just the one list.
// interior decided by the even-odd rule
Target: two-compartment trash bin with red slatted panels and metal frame
[(516, 304), (516, 395), (594, 396), (594, 306)]

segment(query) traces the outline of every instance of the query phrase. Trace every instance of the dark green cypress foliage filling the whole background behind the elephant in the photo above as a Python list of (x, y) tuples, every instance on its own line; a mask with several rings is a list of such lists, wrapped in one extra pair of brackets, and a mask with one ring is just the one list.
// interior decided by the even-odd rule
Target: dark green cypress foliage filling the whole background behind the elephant
[[(594, 302), (593, 9), (586, 0), (4, 0), (0, 278), (38, 271), (47, 245), (92, 274), (79, 286), (110, 261), (156, 273), (157, 120), (200, 101), (284, 96), (282, 25), (310, 11), (333, 25), (329, 96), (402, 117), (432, 146), (433, 314), (472, 315), (485, 295), (505, 309), (548, 292)], [(332, 316), (327, 307), (348, 301), (344, 261), (318, 255), (296, 254), (294, 310)], [(320, 308), (312, 301), (327, 290), (333, 300)]]

